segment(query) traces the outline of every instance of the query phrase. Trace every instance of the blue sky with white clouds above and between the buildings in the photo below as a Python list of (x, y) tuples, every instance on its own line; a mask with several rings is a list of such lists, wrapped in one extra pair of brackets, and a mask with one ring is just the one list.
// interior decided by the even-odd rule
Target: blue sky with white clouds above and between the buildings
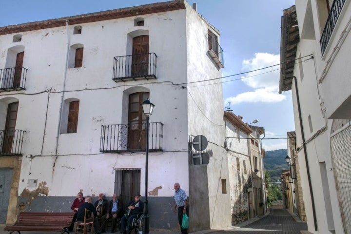
[[(0, 26), (56, 19), (164, 0), (7, 0), (1, 2)], [(280, 19), (294, 0), (188, 0), (221, 33), (223, 76), (278, 64)], [(265, 138), (294, 131), (291, 91), (278, 94), (279, 66), (223, 79), (224, 107), (244, 122), (258, 119)], [(273, 71), (276, 70), (276, 71)], [(236, 79), (236, 80), (234, 80)], [(233, 80), (233, 81), (232, 81)], [(268, 150), (286, 149), (286, 139), (265, 139)]]

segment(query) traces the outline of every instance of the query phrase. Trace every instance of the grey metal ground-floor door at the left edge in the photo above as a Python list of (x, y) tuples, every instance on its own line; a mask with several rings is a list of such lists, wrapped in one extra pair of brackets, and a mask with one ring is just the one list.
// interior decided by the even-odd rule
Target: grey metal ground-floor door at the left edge
[(6, 223), (12, 184), (12, 168), (0, 169), (0, 223)]

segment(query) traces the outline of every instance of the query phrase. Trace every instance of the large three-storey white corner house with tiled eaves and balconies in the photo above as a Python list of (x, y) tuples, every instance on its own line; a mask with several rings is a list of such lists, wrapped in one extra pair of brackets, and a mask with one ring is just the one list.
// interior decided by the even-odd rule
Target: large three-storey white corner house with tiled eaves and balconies
[[(79, 191), (144, 196), (140, 104), (150, 98), (150, 227), (178, 229), (175, 182), (191, 230), (231, 225), (230, 193), (218, 190), (229, 190), (222, 85), (196, 85), (221, 77), (223, 51), (186, 1), (1, 27), (0, 55), (0, 223), (23, 210), (70, 211)], [(209, 142), (200, 165), (197, 135)]]

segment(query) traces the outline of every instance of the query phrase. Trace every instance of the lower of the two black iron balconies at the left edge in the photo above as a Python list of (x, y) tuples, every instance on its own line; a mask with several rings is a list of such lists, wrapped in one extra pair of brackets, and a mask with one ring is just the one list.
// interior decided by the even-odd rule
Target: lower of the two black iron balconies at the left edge
[(0, 130), (0, 155), (22, 155), (24, 132), (22, 130)]

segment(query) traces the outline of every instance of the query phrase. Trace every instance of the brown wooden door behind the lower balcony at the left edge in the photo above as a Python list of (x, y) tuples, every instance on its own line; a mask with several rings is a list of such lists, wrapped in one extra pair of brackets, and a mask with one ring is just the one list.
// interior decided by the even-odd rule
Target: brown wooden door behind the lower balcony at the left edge
[(2, 152), (3, 154), (12, 153), (12, 144), (15, 137), (15, 128), (16, 128), (16, 119), (17, 119), (17, 110), (18, 102), (13, 102), (8, 104), (7, 107), (7, 116), (4, 137), (2, 140)]

